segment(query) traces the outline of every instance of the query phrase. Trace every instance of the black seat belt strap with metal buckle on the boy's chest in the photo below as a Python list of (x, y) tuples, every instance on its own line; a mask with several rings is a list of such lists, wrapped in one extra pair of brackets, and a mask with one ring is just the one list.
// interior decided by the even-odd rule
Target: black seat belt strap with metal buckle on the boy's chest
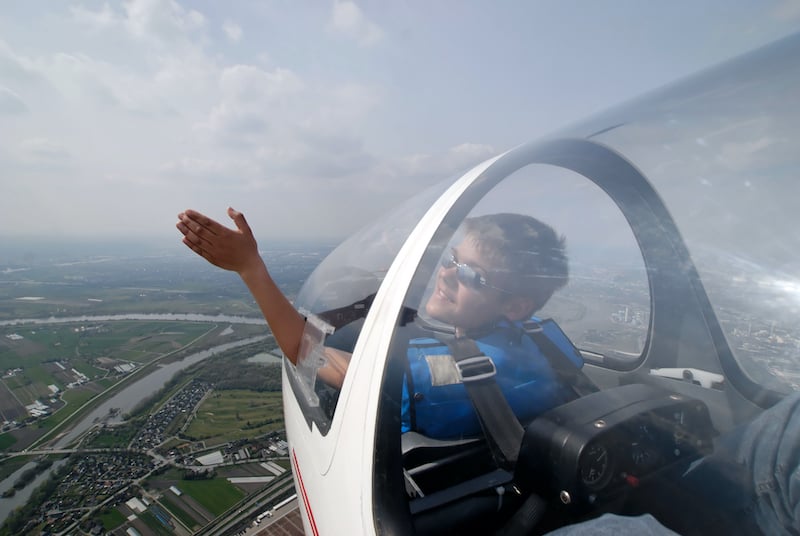
[(515, 463), (525, 430), (497, 385), (494, 362), (472, 339), (450, 339), (447, 346), (496, 461)]

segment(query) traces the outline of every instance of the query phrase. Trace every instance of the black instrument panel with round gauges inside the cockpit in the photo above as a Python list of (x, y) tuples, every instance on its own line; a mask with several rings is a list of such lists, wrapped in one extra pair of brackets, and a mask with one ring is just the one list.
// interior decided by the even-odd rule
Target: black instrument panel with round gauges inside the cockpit
[(715, 435), (702, 401), (625, 385), (577, 399), (528, 425), (515, 481), (565, 505), (594, 505), (709, 454)]

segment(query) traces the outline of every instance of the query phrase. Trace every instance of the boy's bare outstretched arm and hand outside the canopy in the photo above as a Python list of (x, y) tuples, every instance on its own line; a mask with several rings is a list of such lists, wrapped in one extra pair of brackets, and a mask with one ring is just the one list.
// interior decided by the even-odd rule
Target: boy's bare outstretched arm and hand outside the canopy
[(175, 225), (183, 243), (214, 266), (239, 274), (255, 298), (275, 340), (297, 364), (305, 319), (281, 292), (258, 253), (258, 244), (241, 212), (228, 208), (236, 229), (225, 227), (195, 210), (178, 214)]

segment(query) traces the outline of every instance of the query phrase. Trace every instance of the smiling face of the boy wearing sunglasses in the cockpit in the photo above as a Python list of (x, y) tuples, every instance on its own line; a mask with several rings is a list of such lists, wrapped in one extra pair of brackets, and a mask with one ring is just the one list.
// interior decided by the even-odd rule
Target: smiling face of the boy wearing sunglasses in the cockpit
[[(481, 254), (469, 236), (452, 249), (455, 261), (469, 265), (492, 284), (492, 264)], [(455, 326), (460, 330), (481, 328), (505, 316), (508, 294), (501, 290), (462, 283), (455, 265), (440, 267), (436, 286), (425, 304), (425, 312), (432, 318)]]

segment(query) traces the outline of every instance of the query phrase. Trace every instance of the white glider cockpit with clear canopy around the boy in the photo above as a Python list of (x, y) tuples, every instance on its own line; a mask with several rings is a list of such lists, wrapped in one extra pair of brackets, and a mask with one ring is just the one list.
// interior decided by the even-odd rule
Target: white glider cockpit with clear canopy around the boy
[[(512, 149), (337, 248), (297, 299), (305, 357), (284, 360), (306, 530), (527, 534), (607, 512), (774, 528), (720, 506), (746, 479), (691, 473), (800, 384), (798, 55), (790, 37)], [(465, 220), (501, 213), (566, 237), (569, 282), (535, 315), (592, 387), (511, 432), (481, 410), (478, 434), (407, 430), (410, 341), (453, 331), (426, 315), (437, 274), (469, 265), (448, 260)], [(341, 389), (317, 378), (325, 347), (352, 355)]]

